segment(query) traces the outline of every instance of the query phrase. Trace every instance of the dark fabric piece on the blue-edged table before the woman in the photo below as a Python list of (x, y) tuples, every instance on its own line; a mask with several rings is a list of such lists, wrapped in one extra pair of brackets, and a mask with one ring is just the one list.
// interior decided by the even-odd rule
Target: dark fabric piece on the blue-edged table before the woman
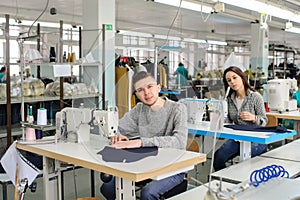
[(257, 132), (276, 132), (276, 133), (286, 133), (290, 132), (285, 127), (281, 126), (247, 126), (247, 125), (238, 125), (238, 124), (226, 124), (226, 128), (232, 128), (234, 130), (243, 130), (243, 131), (257, 131)]

